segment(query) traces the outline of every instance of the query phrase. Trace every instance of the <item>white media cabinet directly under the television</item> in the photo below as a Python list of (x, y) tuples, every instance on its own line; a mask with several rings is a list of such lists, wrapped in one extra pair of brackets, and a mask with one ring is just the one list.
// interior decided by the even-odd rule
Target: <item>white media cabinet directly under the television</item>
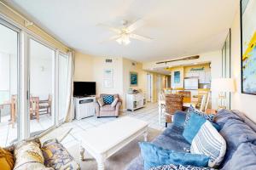
[(75, 119), (81, 120), (85, 117), (95, 116), (96, 97), (75, 97)]

